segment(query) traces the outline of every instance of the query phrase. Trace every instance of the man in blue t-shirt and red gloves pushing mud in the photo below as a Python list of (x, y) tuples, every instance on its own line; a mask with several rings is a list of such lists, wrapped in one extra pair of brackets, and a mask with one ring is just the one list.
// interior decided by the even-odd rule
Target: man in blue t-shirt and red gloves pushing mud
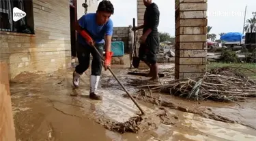
[[(73, 73), (73, 84), (75, 87), (79, 87), (79, 78), (89, 68), (90, 54), (93, 56), (91, 62), (91, 76), (90, 76), (90, 92), (89, 98), (94, 100), (102, 100), (102, 97), (97, 94), (97, 87), (100, 81), (100, 75), (102, 72), (102, 60), (97, 52), (91, 47), (91, 43), (88, 42), (89, 36), (95, 41), (94, 45), (98, 49), (100, 54), (103, 54), (105, 49), (105, 71), (107, 66), (111, 64), (111, 39), (113, 35), (113, 22), (110, 16), (114, 13), (114, 7), (110, 1), (101, 1), (98, 5), (96, 13), (85, 14), (78, 22), (76, 22), (77, 45), (76, 54), (79, 60), (79, 65)], [(87, 34), (88, 33), (88, 34)], [(104, 37), (106, 36), (106, 41)]]

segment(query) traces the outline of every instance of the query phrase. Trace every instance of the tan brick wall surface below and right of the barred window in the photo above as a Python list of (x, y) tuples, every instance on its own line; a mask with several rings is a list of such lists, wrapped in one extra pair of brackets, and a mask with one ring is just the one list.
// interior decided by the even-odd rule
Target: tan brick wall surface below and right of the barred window
[(0, 32), (0, 60), (10, 79), (23, 71), (57, 71), (70, 64), (69, 1), (33, 0), (35, 35)]

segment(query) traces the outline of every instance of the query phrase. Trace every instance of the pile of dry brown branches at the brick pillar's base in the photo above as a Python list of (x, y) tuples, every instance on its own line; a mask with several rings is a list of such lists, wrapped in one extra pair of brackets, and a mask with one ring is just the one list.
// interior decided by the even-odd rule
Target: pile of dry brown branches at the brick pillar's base
[[(229, 76), (218, 73), (229, 74)], [(247, 79), (241, 73), (236, 73), (229, 68), (216, 68), (196, 80), (187, 78), (138, 87), (150, 87), (152, 91), (168, 92), (175, 96), (194, 100), (234, 102), (256, 98), (256, 81)]]

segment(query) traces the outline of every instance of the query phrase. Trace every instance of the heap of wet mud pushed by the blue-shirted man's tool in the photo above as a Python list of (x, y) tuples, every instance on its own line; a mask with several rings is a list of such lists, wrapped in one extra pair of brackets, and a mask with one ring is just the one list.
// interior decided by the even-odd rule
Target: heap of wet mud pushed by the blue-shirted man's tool
[(169, 116), (167, 110), (160, 108), (156, 113), (131, 117), (124, 123), (111, 121), (106, 118), (99, 118), (96, 122), (113, 132), (124, 134), (126, 132), (138, 133), (150, 131), (151, 129), (156, 129), (160, 123), (173, 124), (173, 119), (169, 117), (171, 116)]

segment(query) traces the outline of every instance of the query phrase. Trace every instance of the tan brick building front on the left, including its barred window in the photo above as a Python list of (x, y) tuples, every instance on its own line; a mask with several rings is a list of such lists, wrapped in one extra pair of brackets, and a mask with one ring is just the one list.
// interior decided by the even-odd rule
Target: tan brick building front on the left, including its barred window
[[(92, 11), (93, 1), (87, 0)], [(82, 15), (76, 0), (1, 2), (0, 61), (7, 62), (10, 79), (24, 71), (50, 73), (70, 66), (76, 39), (72, 25)], [(14, 7), (26, 12), (25, 18), (14, 22)]]

